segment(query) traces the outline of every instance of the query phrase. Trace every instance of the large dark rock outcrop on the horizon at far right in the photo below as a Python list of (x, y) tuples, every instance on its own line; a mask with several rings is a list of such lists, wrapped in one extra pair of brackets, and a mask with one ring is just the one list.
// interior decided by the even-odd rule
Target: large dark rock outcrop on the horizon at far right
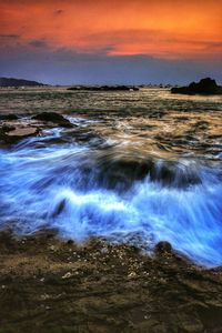
[(183, 94), (222, 94), (222, 87), (218, 85), (215, 80), (205, 78), (200, 82), (192, 82), (188, 87), (174, 87), (171, 89), (172, 93)]

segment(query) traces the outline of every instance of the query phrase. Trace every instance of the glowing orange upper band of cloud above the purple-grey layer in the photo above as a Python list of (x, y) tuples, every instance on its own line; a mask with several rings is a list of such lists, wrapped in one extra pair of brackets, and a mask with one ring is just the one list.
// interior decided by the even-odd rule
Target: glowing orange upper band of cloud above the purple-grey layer
[(0, 0), (0, 13), (4, 47), (165, 59), (222, 57), (222, 0)]

